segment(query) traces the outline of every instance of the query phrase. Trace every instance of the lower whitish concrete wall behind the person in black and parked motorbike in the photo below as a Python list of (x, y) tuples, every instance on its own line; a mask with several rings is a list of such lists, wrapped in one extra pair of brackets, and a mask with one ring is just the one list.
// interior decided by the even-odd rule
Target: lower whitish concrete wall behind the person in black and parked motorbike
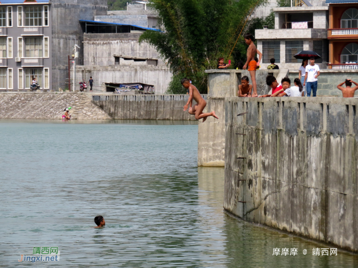
[[(131, 84), (143, 83), (154, 86), (155, 94), (164, 94), (172, 78), (172, 72), (165, 66), (77, 66), (78, 81), (88, 81), (93, 77), (94, 90), (106, 91), (105, 83)], [(77, 85), (76, 85), (77, 87)], [(76, 89), (78, 89), (77, 87)]]

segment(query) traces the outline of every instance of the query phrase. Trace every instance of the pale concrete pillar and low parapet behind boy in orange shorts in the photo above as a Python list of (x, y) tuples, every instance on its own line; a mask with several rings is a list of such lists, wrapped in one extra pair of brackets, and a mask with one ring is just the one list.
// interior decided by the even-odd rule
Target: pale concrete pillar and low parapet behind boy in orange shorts
[[(247, 70), (207, 70), (209, 74), (209, 95), (204, 112), (215, 111), (219, 119), (209, 117), (198, 127), (198, 166), (225, 165), (225, 108), (224, 98), (237, 96), (241, 77), (248, 76)], [(266, 85), (267, 75), (279, 74), (279, 70), (257, 70), (257, 92), (267, 94), (270, 87)]]

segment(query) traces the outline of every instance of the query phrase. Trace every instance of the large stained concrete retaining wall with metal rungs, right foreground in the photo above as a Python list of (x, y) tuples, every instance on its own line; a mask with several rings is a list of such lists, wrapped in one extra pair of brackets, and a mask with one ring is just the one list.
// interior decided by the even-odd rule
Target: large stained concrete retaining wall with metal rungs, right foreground
[(341, 98), (226, 98), (224, 208), (358, 252), (357, 105)]

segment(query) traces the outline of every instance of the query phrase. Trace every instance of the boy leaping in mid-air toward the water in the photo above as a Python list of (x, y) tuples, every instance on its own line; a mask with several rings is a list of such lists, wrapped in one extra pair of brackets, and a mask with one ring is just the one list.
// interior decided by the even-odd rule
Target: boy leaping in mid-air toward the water
[(189, 100), (187, 104), (184, 106), (184, 111), (188, 110), (189, 104), (192, 104), (192, 101), (194, 99), (197, 104), (195, 104), (194, 107), (190, 107), (189, 113), (195, 114), (196, 120), (203, 118), (203, 122), (204, 122), (208, 116), (214, 116), (215, 118), (219, 119), (219, 117), (216, 116), (214, 111), (212, 111), (211, 113), (203, 113), (203, 110), (206, 106), (206, 101), (203, 99), (202, 95), (200, 95), (199, 90), (197, 90), (197, 88), (194, 85), (190, 84), (189, 79), (183, 78), (182, 85), (185, 88), (189, 88)]

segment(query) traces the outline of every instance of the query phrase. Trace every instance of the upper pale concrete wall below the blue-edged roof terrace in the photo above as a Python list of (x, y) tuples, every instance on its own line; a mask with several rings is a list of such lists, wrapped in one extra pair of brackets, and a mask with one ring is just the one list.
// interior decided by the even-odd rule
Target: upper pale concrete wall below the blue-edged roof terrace
[(84, 65), (114, 65), (114, 55), (158, 59), (165, 64), (158, 51), (146, 42), (139, 43), (141, 34), (84, 34)]

